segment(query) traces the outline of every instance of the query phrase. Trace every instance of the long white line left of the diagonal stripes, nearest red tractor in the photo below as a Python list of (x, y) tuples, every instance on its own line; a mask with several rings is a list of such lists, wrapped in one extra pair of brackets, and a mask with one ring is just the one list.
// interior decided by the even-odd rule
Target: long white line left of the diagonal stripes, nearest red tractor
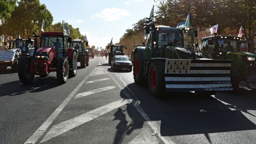
[[(83, 79), (83, 81), (78, 86), (76, 86), (76, 88), (71, 92), (71, 94), (58, 106), (58, 108), (56, 108), (56, 110), (50, 115), (50, 117), (46, 119), (46, 121), (35, 131), (35, 133), (33, 133), (33, 135), (24, 144), (27, 144), (27, 143), (35, 144), (35, 142), (37, 142), (37, 140), (43, 135), (43, 133), (50, 126), (50, 124), (52, 124), (52, 122), (56, 119), (59, 113), (63, 110), (63, 108), (67, 105), (67, 103), (69, 103), (72, 97), (74, 97), (76, 92), (81, 88), (81, 86), (85, 83), (85, 81), (89, 78), (89, 76), (91, 76), (91, 74), (94, 72), (95, 69), (96, 67), (93, 68), (93, 70)], [(40, 131), (40, 130), (44, 130), (44, 131)]]

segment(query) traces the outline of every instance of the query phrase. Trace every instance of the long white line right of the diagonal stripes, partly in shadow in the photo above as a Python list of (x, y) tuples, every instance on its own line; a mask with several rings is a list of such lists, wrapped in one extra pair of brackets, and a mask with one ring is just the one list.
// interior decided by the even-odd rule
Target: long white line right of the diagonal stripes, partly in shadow
[[(106, 71), (107, 72), (107, 71)], [(136, 110), (141, 114), (141, 116), (145, 119), (145, 121), (147, 121), (148, 125), (152, 128), (152, 130), (154, 131), (155, 128), (158, 128), (158, 131), (156, 132), (156, 134), (158, 135), (158, 137), (160, 137), (161, 140), (163, 140), (163, 142), (165, 144), (176, 144), (175, 142), (173, 142), (171, 140), (170, 137), (168, 137), (168, 135), (165, 135), (167, 137), (163, 137), (160, 133), (160, 127), (157, 125), (156, 121), (151, 121), (150, 118), (148, 117), (147, 113), (143, 110), (143, 108), (141, 108), (141, 106), (139, 104), (136, 103), (136, 101), (134, 99), (138, 99), (135, 94), (132, 92), (132, 90), (130, 90), (130, 88), (128, 88), (128, 86), (126, 85), (126, 83), (122, 80), (122, 77), (119, 76), (119, 74), (117, 74), (117, 76), (120, 77), (120, 80), (124, 83), (124, 87), (121, 86), (121, 84), (119, 84), (117, 82), (117, 80), (111, 76), (111, 74), (109, 74), (109, 72), (107, 72), (108, 75), (111, 77), (111, 79), (115, 82), (115, 84), (120, 88), (120, 90), (122, 90), (122, 92), (124, 93), (124, 95), (130, 100), (132, 100), (132, 104), (134, 105), (134, 107), (136, 108)], [(125, 90), (125, 88), (127, 88), (129, 90), (129, 92), (132, 94), (132, 96)], [(130, 101), (131, 101), (130, 100)], [(164, 133), (164, 132), (163, 132)]]

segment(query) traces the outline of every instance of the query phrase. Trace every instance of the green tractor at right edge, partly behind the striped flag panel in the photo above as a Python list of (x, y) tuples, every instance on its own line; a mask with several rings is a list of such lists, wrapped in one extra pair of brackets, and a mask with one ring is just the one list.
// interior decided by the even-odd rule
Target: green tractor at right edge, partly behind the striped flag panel
[(211, 59), (230, 59), (232, 60), (231, 80), (234, 89), (239, 88), (242, 81), (247, 83), (247, 87), (256, 88), (256, 54), (242, 49), (243, 43), (237, 36), (208, 36), (201, 39), (201, 56)]

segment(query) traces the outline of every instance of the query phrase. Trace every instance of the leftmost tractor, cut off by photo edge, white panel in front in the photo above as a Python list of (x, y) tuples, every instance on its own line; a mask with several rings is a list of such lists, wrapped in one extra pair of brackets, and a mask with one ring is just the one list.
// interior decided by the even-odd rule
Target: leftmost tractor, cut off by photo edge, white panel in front
[[(9, 48), (4, 52), (0, 52), (0, 71), (2, 72), (6, 71), (8, 66), (17, 70), (22, 54), (30, 54), (33, 56), (34, 53), (34, 40), (28, 42), (28, 39), (22, 39), (18, 35), (17, 39), (8, 40), (8, 42)], [(5, 45), (7, 45), (7, 42), (5, 42)]]

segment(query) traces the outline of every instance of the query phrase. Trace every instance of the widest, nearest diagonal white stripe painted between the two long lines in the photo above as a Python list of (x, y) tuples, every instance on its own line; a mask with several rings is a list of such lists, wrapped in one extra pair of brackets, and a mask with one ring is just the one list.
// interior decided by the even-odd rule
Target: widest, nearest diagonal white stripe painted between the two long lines
[(104, 115), (105, 113), (108, 113), (112, 110), (115, 110), (116, 108), (119, 108), (120, 106), (123, 106), (127, 103), (130, 103), (127, 99), (121, 99), (119, 101), (115, 101), (105, 106), (101, 106), (99, 108), (96, 108), (95, 110), (83, 113), (82, 115), (56, 124), (55, 126), (52, 126), (52, 128), (48, 131), (48, 133), (45, 135), (41, 143), (45, 142), (46, 140), (57, 137), (58, 135), (61, 135), (62, 133), (65, 133), (73, 128), (76, 128), (77, 126), (80, 126), (86, 122), (96, 119), (97, 117)]

